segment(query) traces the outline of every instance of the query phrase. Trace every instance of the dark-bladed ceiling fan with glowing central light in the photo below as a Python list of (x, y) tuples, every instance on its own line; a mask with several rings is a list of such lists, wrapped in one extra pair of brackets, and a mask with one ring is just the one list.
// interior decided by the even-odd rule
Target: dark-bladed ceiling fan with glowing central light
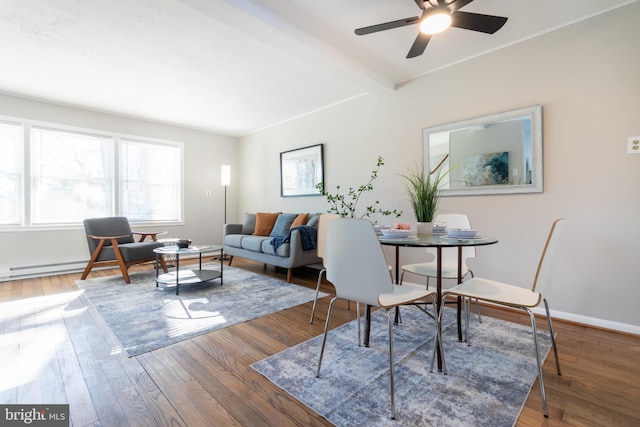
[(406, 25), (420, 24), (420, 33), (418, 33), (418, 37), (416, 37), (407, 54), (407, 58), (415, 58), (416, 56), (422, 55), (433, 34), (442, 32), (449, 27), (493, 34), (507, 22), (507, 18), (502, 16), (483, 15), (481, 13), (462, 12), (460, 10), (473, 0), (414, 1), (418, 7), (422, 9), (421, 16), (358, 28), (355, 30), (356, 34), (363, 36), (365, 34), (391, 30)]

